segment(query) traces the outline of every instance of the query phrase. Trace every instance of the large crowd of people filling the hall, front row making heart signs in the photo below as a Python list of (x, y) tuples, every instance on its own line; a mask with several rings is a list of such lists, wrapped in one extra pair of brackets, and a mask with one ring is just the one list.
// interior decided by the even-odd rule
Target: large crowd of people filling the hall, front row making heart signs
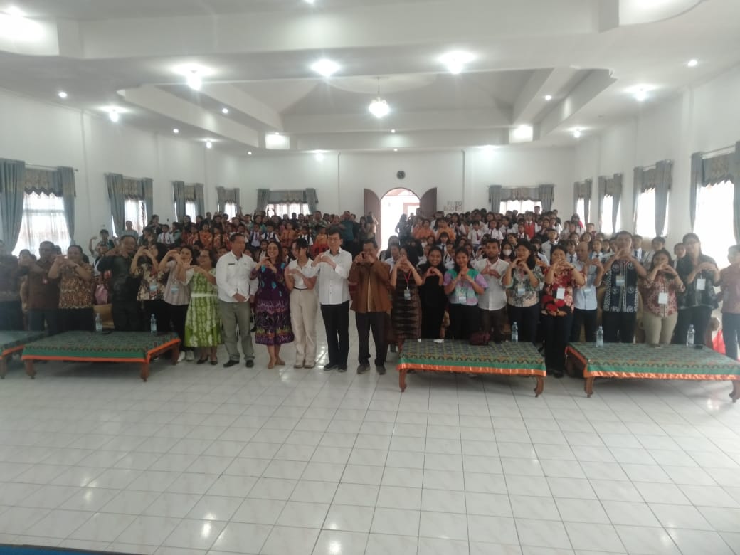
[(560, 377), (568, 341), (593, 342), (599, 326), (605, 342), (684, 343), (690, 329), (704, 342), (721, 299), (727, 356), (737, 357), (740, 246), (720, 271), (693, 233), (671, 253), (663, 238), (648, 249), (639, 235), (607, 237), (577, 215), (539, 209), (417, 211), (382, 249), (377, 232), (374, 215), (349, 211), (209, 212), (172, 228), (153, 216), (141, 236), (131, 222), (115, 239), (103, 229), (90, 256), (44, 241), (38, 255), (16, 258), (0, 244), (0, 329), (92, 331), (95, 304), (110, 303), (115, 330), (175, 332), (181, 357), (198, 364), (217, 364), (223, 343), (223, 366), (242, 357), (254, 366), (254, 333), (268, 368), (285, 365), (281, 348), (295, 343), (293, 365), (311, 369), (320, 309), (323, 369), (346, 371), (351, 310), (360, 374), (371, 367), (370, 334), (373, 366), (385, 374), (389, 346), (481, 332), (500, 343), (515, 326)]

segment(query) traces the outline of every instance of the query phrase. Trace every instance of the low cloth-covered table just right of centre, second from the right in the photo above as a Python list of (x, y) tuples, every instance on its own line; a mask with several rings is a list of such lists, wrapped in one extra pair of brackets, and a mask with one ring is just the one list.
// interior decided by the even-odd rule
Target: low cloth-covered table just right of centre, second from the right
[(406, 372), (462, 372), (465, 374), (498, 374), (501, 376), (534, 376), (535, 397), (545, 388), (545, 361), (531, 343), (490, 343), (474, 346), (467, 341), (445, 339), (409, 340), (403, 343), (398, 357), (398, 385), (406, 391)]

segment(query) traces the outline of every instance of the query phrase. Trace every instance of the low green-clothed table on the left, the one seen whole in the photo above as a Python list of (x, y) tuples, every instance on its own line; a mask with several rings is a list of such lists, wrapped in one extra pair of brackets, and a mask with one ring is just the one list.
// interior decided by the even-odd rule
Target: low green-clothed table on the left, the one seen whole
[(34, 360), (73, 360), (86, 363), (140, 363), (141, 379), (149, 378), (152, 357), (172, 350), (172, 364), (180, 356), (178, 334), (147, 332), (66, 332), (27, 344), (21, 357), (26, 374), (36, 376)]

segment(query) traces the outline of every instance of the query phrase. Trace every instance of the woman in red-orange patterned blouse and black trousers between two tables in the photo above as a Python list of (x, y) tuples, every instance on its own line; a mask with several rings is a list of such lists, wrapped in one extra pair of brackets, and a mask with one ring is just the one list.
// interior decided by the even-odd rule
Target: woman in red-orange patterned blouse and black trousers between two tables
[(548, 374), (562, 377), (565, 347), (573, 326), (573, 287), (586, 283), (585, 277), (565, 258), (565, 249), (555, 245), (550, 251), (550, 269), (545, 274), (539, 323), (545, 337), (545, 367)]

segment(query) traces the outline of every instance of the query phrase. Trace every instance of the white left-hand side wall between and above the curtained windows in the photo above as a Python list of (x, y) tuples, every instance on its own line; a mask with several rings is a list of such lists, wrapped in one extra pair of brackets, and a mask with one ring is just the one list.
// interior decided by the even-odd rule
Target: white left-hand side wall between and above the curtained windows
[[(72, 166), (77, 203), (75, 240), (110, 228), (110, 200), (104, 174), (154, 180), (154, 211), (161, 221), (175, 217), (172, 181), (206, 184), (206, 208), (216, 204), (216, 186), (234, 187), (243, 176), (242, 158), (167, 135), (113, 124), (107, 118), (0, 91), (0, 157), (41, 166)], [(125, 118), (125, 116), (123, 116)]]

